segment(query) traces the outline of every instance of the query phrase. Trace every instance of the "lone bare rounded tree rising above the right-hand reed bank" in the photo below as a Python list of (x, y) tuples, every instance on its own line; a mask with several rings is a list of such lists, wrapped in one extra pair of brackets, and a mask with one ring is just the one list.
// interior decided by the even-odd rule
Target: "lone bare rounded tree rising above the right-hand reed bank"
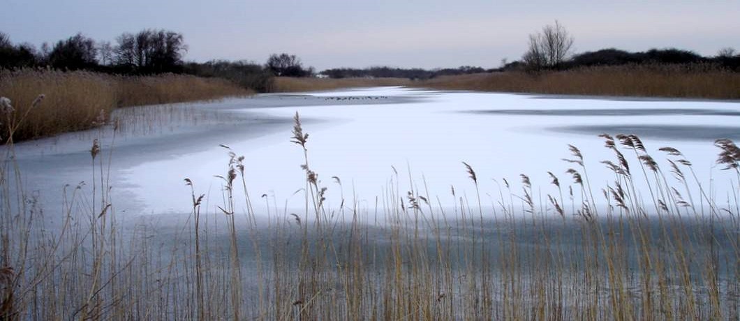
[(542, 27), (542, 32), (529, 35), (529, 47), (522, 60), (531, 70), (557, 68), (571, 55), (573, 36), (555, 21)]

